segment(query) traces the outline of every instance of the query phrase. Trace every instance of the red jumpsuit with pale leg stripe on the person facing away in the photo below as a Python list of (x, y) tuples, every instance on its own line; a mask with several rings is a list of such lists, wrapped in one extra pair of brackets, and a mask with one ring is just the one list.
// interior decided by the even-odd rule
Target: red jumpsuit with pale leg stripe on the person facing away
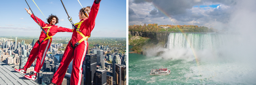
[[(95, 19), (96, 15), (99, 11), (99, 3), (95, 3), (96, 0), (93, 3), (93, 6), (91, 7), (90, 14), (88, 19), (84, 20), (83, 23), (81, 23), (79, 31), (81, 31), (84, 36), (90, 36), (91, 31), (93, 30), (95, 26)], [(83, 21), (83, 19), (81, 20)], [(80, 21), (80, 22), (81, 22)], [(77, 27), (77, 25), (76, 25)], [(76, 30), (73, 31), (72, 39), (70, 42), (72, 42), (72, 45), (74, 46), (76, 42), (81, 40), (83, 37), (76, 32)], [(81, 76), (82, 76), (82, 64), (84, 61), (84, 57), (87, 51), (88, 42), (84, 40), (81, 42), (75, 49), (71, 47), (71, 44), (67, 44), (67, 47), (64, 51), (61, 64), (58, 67), (58, 70), (55, 72), (54, 76), (52, 77), (52, 82), (61, 85), (63, 78), (65, 76), (65, 73), (67, 71), (68, 65), (73, 59), (73, 68), (70, 78), (70, 85), (80, 85), (81, 84)]]

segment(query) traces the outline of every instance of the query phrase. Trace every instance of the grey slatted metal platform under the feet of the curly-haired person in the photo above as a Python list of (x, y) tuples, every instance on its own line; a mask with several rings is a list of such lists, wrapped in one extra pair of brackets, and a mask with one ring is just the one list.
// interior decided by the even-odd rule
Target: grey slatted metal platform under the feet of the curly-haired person
[(26, 79), (24, 74), (14, 71), (9, 65), (0, 62), (0, 85), (39, 85), (33, 80)]

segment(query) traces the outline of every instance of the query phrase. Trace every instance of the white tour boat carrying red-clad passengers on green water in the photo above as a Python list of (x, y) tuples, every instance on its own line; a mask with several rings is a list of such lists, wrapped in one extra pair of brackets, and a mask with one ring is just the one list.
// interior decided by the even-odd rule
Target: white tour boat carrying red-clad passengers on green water
[(160, 69), (152, 69), (149, 75), (169, 75), (171, 70), (167, 70), (167, 68)]

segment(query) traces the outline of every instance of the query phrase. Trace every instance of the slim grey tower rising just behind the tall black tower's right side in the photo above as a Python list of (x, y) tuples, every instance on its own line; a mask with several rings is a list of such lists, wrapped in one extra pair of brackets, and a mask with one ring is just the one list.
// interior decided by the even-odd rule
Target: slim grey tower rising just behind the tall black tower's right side
[(101, 66), (101, 68), (105, 68), (105, 60), (103, 57), (103, 51), (97, 50), (97, 65)]

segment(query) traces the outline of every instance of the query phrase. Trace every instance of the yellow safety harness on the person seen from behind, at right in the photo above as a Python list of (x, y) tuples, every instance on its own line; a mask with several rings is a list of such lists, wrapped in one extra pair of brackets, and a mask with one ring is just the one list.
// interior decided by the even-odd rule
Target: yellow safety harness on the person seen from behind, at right
[[(81, 23), (83, 23), (83, 22), (84, 22), (84, 21), (81, 21), (81, 22), (79, 22), (79, 23), (73, 24), (73, 28), (75, 28), (76, 32), (79, 33), (79, 34), (83, 37), (81, 40), (79, 40), (78, 42), (76, 42), (75, 46), (72, 45), (72, 42), (70, 43), (70, 44), (71, 44), (71, 47), (74, 48), (74, 49), (75, 49), (76, 46), (78, 46), (81, 42), (83, 42), (84, 40), (87, 40), (87, 38), (90, 37), (90, 35), (89, 35), (89, 36), (84, 36), (84, 34), (81, 33), (81, 31), (79, 31), (80, 26), (81, 26)], [(77, 28), (76, 28), (76, 25), (78, 25)], [(72, 29), (72, 31), (73, 31), (73, 29)]]

